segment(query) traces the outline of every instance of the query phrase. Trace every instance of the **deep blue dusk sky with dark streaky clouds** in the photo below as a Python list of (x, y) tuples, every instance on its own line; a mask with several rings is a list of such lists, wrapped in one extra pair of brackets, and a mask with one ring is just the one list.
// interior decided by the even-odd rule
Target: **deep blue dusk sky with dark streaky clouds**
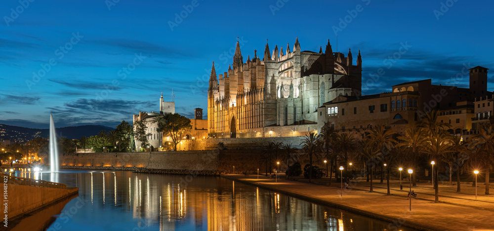
[[(207, 109), (211, 63), (239, 40), (362, 54), (363, 94), (406, 81), (468, 87), (464, 68), (494, 68), (487, 0), (9, 0), (0, 6), (0, 123), (115, 127), (171, 100)], [(266, 40), (268, 39), (268, 40)], [(337, 42), (337, 48), (336, 48)], [(354, 62), (356, 58), (354, 58)], [(355, 65), (355, 63), (354, 63)], [(384, 72), (378, 72), (382, 68)], [(380, 73), (380, 75), (376, 74)], [(493, 74), (488, 75), (494, 90)], [(206, 112), (204, 115), (207, 115)]]

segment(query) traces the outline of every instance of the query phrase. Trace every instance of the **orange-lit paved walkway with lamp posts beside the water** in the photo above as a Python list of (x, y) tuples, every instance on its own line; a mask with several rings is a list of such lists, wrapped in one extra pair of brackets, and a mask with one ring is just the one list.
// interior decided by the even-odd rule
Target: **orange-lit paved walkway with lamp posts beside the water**
[[(484, 195), (485, 185), (478, 185), (478, 196), (475, 201), (475, 188), (461, 185), (461, 193), (456, 192), (456, 186), (441, 185), (439, 200), (434, 203), (434, 191), (430, 183), (417, 183), (412, 187), (418, 194), (418, 199), (407, 199), (409, 184), (403, 182), (400, 191), (399, 181), (390, 182), (392, 195), (386, 195), (386, 181), (383, 184), (374, 182), (374, 192), (369, 192), (369, 184), (363, 181), (352, 182), (351, 189), (340, 195), (340, 183), (332, 186), (309, 184), (305, 179), (286, 180), (279, 177), (278, 183), (274, 178), (256, 175), (224, 175), (232, 180), (240, 180), (273, 191), (297, 195), (317, 203), (341, 208), (351, 212), (377, 216), (392, 223), (391, 227), (399, 228), (406, 223), (413, 228), (422, 227), (425, 230), (445, 231), (494, 231), (494, 196)], [(328, 179), (318, 180), (324, 184)], [(379, 182), (379, 180), (376, 180)], [(407, 182), (408, 183), (408, 182)], [(454, 189), (454, 191), (453, 191)], [(491, 190), (494, 193), (494, 190)], [(470, 194), (473, 192), (473, 194)], [(398, 229), (399, 230), (399, 229)]]

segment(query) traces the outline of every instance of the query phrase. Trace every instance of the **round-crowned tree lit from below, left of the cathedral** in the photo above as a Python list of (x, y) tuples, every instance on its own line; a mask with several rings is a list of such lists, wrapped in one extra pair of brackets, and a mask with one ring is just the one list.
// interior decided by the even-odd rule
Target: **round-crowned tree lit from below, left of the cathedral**
[(173, 141), (173, 149), (177, 150), (177, 144), (182, 141), (182, 135), (192, 129), (190, 119), (178, 113), (166, 114), (166, 122), (163, 126), (165, 134), (169, 134)]

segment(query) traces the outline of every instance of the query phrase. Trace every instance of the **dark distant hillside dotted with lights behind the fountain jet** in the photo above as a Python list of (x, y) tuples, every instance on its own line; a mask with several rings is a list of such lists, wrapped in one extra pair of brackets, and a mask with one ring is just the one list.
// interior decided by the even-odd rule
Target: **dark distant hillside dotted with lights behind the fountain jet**
[[(68, 139), (80, 139), (82, 136), (89, 137), (97, 135), (101, 130), (111, 131), (114, 129), (115, 128), (102, 125), (82, 125), (56, 128), (56, 132), (61, 137), (66, 137)], [(49, 132), (49, 129), (36, 129), (0, 124), (0, 139), (11, 140), (12, 142), (25, 142), (36, 137), (48, 138)]]

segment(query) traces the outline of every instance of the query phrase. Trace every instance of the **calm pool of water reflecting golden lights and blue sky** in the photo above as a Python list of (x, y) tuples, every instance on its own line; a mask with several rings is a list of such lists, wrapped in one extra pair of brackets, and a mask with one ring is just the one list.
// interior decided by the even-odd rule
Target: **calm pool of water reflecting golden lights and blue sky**
[(38, 177), (52, 174), (79, 187), (79, 197), (48, 231), (389, 231), (387, 222), (220, 177), (82, 170)]

